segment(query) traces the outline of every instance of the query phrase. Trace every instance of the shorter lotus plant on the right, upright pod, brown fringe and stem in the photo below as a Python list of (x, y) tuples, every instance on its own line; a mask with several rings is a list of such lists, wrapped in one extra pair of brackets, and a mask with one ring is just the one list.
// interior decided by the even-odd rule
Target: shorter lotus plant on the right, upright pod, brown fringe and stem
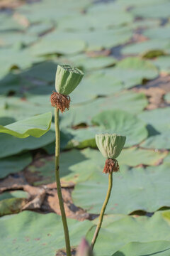
[(120, 152), (125, 145), (125, 136), (120, 136), (118, 134), (96, 134), (96, 144), (101, 154), (106, 158), (106, 163), (103, 169), (103, 173), (108, 174), (108, 192), (106, 194), (105, 201), (101, 208), (101, 213), (98, 220), (98, 225), (94, 233), (94, 238), (91, 241), (91, 249), (93, 250), (96, 239), (98, 238), (98, 233), (101, 229), (103, 222), (103, 216), (108, 204), (109, 198), (111, 196), (111, 189), (113, 184), (113, 173), (119, 171), (119, 165), (116, 158), (120, 155)]

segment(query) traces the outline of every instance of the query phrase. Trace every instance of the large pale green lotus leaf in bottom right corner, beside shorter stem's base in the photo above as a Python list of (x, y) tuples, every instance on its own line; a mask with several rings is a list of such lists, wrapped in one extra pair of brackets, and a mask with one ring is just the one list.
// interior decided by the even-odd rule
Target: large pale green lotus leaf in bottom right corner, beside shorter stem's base
[[(88, 233), (89, 240), (94, 229)], [(154, 213), (152, 218), (125, 216), (115, 220), (114, 215), (108, 215), (98, 235), (95, 252), (114, 256), (169, 255), (169, 241), (169, 210)]]

